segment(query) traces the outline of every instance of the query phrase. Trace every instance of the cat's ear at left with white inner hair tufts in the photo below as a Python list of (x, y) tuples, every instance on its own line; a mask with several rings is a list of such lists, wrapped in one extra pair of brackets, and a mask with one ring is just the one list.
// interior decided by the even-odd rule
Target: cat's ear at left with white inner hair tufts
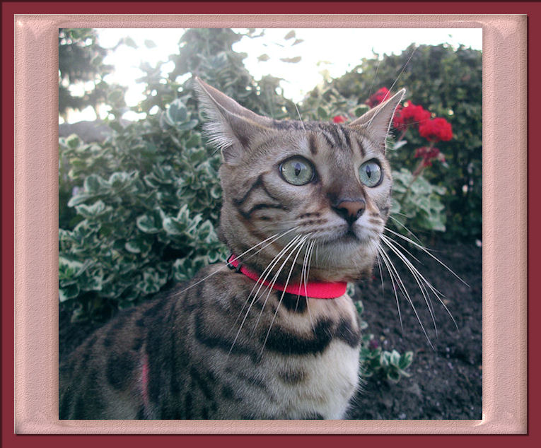
[(252, 138), (269, 131), (272, 121), (246, 109), (197, 76), (194, 87), (202, 110), (208, 115), (204, 131), (209, 142), (220, 149), (226, 163), (238, 163)]

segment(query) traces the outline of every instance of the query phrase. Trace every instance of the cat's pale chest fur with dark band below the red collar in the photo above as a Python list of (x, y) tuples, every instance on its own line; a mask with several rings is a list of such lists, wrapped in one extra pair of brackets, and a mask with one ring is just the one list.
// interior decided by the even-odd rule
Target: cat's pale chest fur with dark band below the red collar
[[(252, 287), (245, 278), (234, 278), (238, 288)], [(260, 331), (255, 334), (250, 332), (252, 319), (244, 323), (262, 358), (249, 369), (252, 380), (247, 384), (255, 387), (244, 388), (254, 414), (247, 414), (245, 408), (242, 418), (337, 419), (346, 415), (359, 384), (360, 329), (353, 302), (347, 295), (299, 300), (274, 293), (267, 302), (267, 317), (279, 307), (279, 322), (269, 326), (268, 319), (262, 319), (264, 324), (257, 326)], [(228, 359), (227, 370), (247, 379), (248, 371), (239, 369), (234, 357)]]

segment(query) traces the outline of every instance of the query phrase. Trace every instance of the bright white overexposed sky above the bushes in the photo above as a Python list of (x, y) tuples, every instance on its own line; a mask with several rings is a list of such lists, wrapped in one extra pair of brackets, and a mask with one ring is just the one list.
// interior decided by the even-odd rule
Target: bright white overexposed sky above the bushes
[[(127, 105), (136, 105), (144, 98), (143, 86), (136, 83), (136, 79), (143, 74), (138, 69), (139, 64), (146, 61), (155, 66), (158, 61), (167, 61), (170, 54), (178, 54), (178, 40), (184, 31), (182, 28), (98, 30), (102, 47), (114, 47), (120, 38), (127, 36), (132, 37), (139, 47), (133, 49), (122, 45), (104, 61), (115, 66), (115, 73), (109, 75), (106, 81), (128, 86)], [(256, 30), (256, 33), (260, 31)], [(244, 37), (233, 45), (233, 49), (248, 54), (244, 63), (256, 80), (266, 74), (283, 78), (281, 87), (284, 95), (296, 102), (318, 86), (324, 76), (342, 76), (354, 69), (364, 57), (373, 57), (373, 52), (380, 55), (400, 54), (412, 42), (417, 45), (448, 43), (453, 47), (462, 44), (472, 49), (482, 49), (481, 28), (297, 28), (294, 37), (286, 39), (290, 31), (291, 28), (267, 28), (263, 37)], [(147, 48), (145, 40), (152, 40), (156, 47)], [(267, 54), (269, 59), (258, 59), (262, 54)], [(301, 57), (296, 64), (280, 60), (295, 57)], [(172, 63), (165, 64), (163, 69), (173, 69)], [(103, 114), (106, 114), (105, 110)], [(69, 114), (68, 121), (95, 118), (93, 111), (86, 110)], [(124, 118), (136, 119), (137, 116), (129, 112)]]

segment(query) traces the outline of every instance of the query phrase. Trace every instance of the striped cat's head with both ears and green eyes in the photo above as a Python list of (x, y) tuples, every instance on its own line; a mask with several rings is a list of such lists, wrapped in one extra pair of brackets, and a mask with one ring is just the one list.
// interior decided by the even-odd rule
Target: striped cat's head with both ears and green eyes
[(243, 261), (260, 272), (277, 261), (273, 274), (285, 262), (279, 278), (292, 263), (291, 278), (301, 278), (308, 261), (312, 281), (370, 273), (390, 211), (385, 138), (405, 91), (354, 122), (334, 124), (262, 117), (198, 78), (195, 84), (206, 132), (223, 155), (220, 233), (233, 253), (259, 244)]

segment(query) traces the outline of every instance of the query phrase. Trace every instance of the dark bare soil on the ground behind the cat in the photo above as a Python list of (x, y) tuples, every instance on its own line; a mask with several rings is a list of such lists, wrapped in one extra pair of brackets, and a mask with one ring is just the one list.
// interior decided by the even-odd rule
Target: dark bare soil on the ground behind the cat
[[(402, 325), (390, 280), (383, 273), (384, 290), (378, 268), (375, 276), (359, 284), (356, 297), (364, 305), (366, 331), (374, 335), (384, 350), (414, 353), (407, 370), (411, 376), (400, 382), (368, 377), (356, 396), (349, 418), (355, 420), (477, 420), (482, 418), (482, 249), (474, 244), (431, 244), (434, 255), (450, 266), (469, 285), (461, 283), (429, 257), (418, 257), (417, 268), (445, 295), (445, 303), (458, 325), (458, 331), (443, 306), (434, 301), (438, 336), (419, 286), (400, 261), (394, 261), (402, 281), (417, 308), (430, 341), (417, 321), (412, 307), (400, 297)], [(409, 257), (411, 259), (411, 257)], [(60, 315), (59, 355), (69, 353), (99, 324), (70, 324)]]

